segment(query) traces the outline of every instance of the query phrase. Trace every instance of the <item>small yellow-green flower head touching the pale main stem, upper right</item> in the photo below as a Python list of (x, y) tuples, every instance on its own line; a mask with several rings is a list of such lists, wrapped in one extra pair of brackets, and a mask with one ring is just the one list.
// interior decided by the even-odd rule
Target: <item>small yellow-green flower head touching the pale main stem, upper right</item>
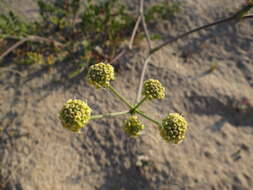
[(144, 81), (142, 94), (149, 99), (163, 99), (165, 97), (165, 88), (155, 79)]

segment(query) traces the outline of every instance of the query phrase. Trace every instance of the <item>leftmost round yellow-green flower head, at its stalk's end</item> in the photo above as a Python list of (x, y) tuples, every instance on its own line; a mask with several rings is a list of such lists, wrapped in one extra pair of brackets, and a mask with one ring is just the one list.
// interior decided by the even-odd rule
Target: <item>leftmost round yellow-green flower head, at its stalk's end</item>
[(79, 132), (90, 119), (91, 108), (82, 100), (70, 99), (60, 111), (62, 126), (70, 131)]

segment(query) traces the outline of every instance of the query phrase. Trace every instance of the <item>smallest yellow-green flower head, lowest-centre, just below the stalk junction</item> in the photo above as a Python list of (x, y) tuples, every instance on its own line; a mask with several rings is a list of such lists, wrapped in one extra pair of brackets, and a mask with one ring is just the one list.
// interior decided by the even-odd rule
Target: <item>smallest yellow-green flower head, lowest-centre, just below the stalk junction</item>
[(123, 129), (130, 137), (137, 137), (144, 129), (144, 125), (138, 120), (137, 116), (130, 116), (124, 121)]

